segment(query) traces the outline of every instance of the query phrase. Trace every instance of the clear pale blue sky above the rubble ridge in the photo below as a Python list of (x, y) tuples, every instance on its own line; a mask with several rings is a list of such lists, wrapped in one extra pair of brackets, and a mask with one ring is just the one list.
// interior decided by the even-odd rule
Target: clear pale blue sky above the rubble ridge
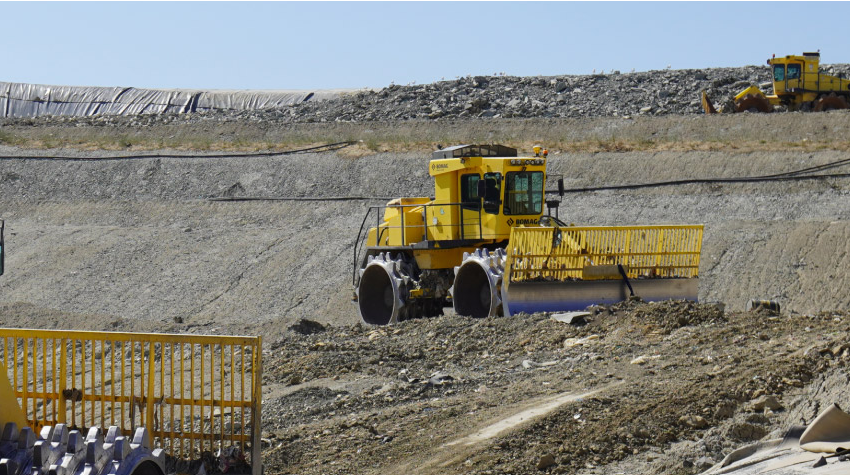
[(383, 87), (456, 76), (850, 63), (846, 2), (0, 2), (0, 81)]

